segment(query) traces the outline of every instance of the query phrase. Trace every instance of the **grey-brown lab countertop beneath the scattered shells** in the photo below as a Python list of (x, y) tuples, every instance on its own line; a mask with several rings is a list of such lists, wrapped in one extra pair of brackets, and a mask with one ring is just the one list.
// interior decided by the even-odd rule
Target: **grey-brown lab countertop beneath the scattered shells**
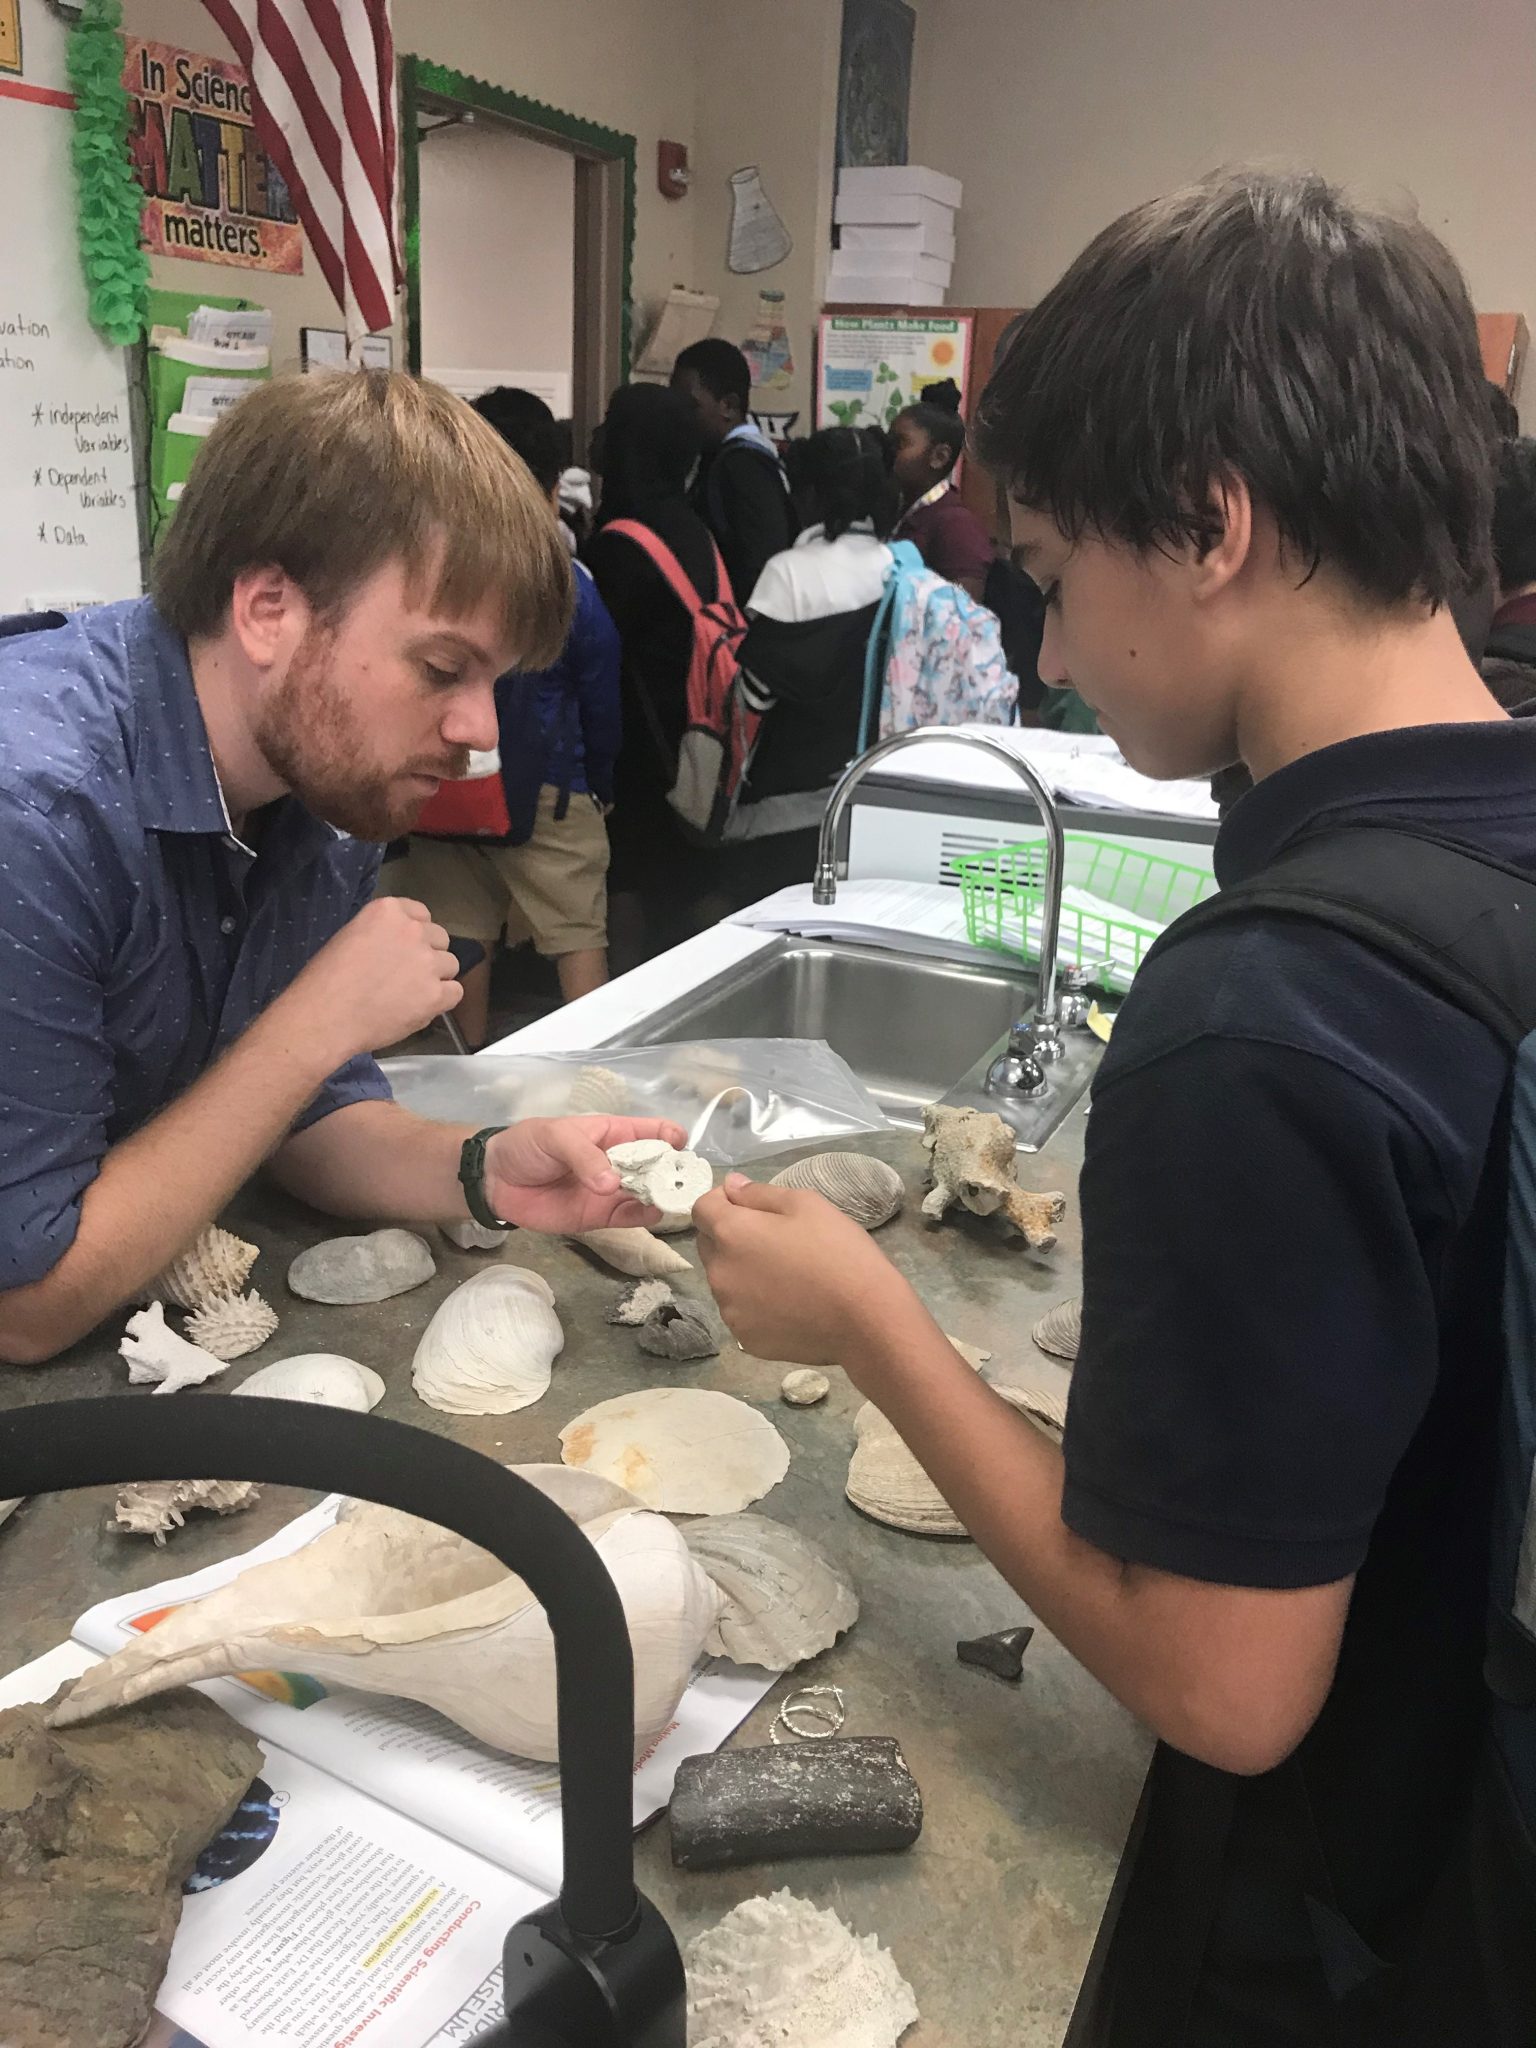
[[(1042, 1153), (1022, 1161), (1026, 1184), (1059, 1186), (1071, 1196), (1081, 1130), (1079, 1108)], [(1075, 1200), (1057, 1249), (1036, 1255), (977, 1219), (924, 1223), (924, 1153), (913, 1137), (883, 1135), (868, 1149), (907, 1182), (907, 1206), (879, 1241), (944, 1329), (991, 1350), (991, 1376), (1061, 1391), (1065, 1374), (1034, 1350), (1030, 1327), (1077, 1290)], [(776, 1155), (760, 1171), (788, 1157)], [(770, 1415), (793, 1462), (756, 1511), (803, 1530), (838, 1559), (858, 1585), (862, 1612), (842, 1642), (774, 1686), (735, 1741), (768, 1741), (778, 1702), (795, 1686), (836, 1683), (848, 1706), (846, 1733), (893, 1735), (901, 1743), (922, 1786), (924, 1831), (901, 1855), (690, 1874), (674, 1870), (662, 1819), (637, 1841), (637, 1880), (680, 1939), (737, 1901), (780, 1886), (831, 1907), (858, 1933), (879, 1935), (913, 1985), (922, 2013), (903, 2048), (1057, 2048), (1130, 1827), (1149, 1739), (1044, 1628), (1036, 1626), (1020, 1683), (956, 1661), (956, 1638), (1032, 1616), (973, 1544), (907, 1536), (848, 1505), (844, 1477), (860, 1395), (840, 1372), (831, 1374), (827, 1401), (793, 1409), (778, 1399), (786, 1368), (735, 1346), (692, 1366), (647, 1360), (631, 1329), (604, 1321), (625, 1282), (557, 1239), (524, 1233), (504, 1255), (537, 1268), (555, 1288), (565, 1350), (553, 1384), (518, 1415), (440, 1415), (412, 1391), (416, 1339), (442, 1296), (487, 1253), (457, 1251), (432, 1231), (426, 1235), (438, 1272), (430, 1282), (385, 1303), (324, 1307), (289, 1294), (285, 1274), (293, 1255), (332, 1235), (334, 1225), (264, 1186), (248, 1188), (223, 1221), (260, 1245), (252, 1284), (283, 1317), (260, 1352), (231, 1366), (231, 1384), (268, 1358), (344, 1352), (385, 1376), (379, 1413), (508, 1462), (557, 1458), (557, 1432), (580, 1409), (664, 1380), (713, 1386)], [(678, 1243), (696, 1262), (692, 1239)], [(678, 1282), (682, 1294), (707, 1292), (698, 1270)], [(121, 1393), (127, 1370), (117, 1356), (119, 1333), (121, 1317), (113, 1317), (51, 1366), (0, 1368), (0, 1405)], [(143, 1397), (154, 1399), (147, 1391)], [(227, 1395), (215, 1382), (172, 1399)], [(2, 1661), (10, 1667), (51, 1649), (96, 1599), (248, 1550), (309, 1501), (270, 1487), (248, 1513), (193, 1516), (164, 1550), (113, 1528), (111, 1489), (29, 1501), (0, 1526)]]

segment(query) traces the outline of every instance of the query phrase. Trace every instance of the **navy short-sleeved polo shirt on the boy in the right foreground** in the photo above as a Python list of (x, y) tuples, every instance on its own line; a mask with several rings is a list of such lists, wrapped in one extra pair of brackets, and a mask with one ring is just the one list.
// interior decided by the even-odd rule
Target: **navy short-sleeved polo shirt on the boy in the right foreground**
[[(1305, 756), (1231, 811), (1217, 874), (1358, 823), (1536, 872), (1536, 727)], [(1358, 1575), (1298, 1765), (1337, 1911), (1378, 1950), (1444, 1853), (1481, 1733), (1503, 1255), (1485, 1165), (1507, 1073), (1491, 1032), (1384, 956), (1255, 913), (1137, 977), (1087, 1122), (1065, 1522), (1223, 1585)], [(1231, 1956), (1307, 1942), (1272, 1778), (1237, 1792)]]

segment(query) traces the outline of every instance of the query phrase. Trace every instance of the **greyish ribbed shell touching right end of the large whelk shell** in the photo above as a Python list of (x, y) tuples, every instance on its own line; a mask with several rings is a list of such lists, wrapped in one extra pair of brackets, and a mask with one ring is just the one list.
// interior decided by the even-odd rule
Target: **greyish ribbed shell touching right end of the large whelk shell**
[(858, 1620), (854, 1581), (782, 1522), (705, 1516), (682, 1534), (725, 1595), (709, 1638), (721, 1657), (788, 1671)]

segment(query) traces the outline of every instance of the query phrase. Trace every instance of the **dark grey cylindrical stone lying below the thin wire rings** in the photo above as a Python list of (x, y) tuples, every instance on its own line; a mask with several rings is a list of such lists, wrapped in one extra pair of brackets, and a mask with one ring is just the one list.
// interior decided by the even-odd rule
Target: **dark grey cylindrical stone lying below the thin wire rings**
[(672, 1862), (680, 1870), (909, 1849), (922, 1825), (918, 1780), (889, 1735), (684, 1757), (672, 1788)]

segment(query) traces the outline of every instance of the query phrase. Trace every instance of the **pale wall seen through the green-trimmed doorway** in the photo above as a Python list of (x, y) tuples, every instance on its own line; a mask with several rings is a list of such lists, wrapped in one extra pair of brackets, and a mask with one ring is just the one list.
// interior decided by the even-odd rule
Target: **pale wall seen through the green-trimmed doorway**
[(571, 373), (575, 158), (494, 123), (422, 137), (422, 365)]

